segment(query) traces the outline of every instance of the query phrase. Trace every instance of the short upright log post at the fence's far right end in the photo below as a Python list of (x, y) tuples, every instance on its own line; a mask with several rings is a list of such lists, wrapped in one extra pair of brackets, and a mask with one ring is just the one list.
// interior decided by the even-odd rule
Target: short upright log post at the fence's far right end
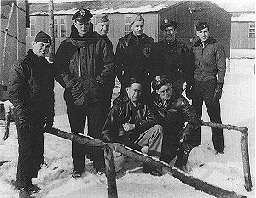
[(252, 180), (250, 172), (250, 161), (249, 161), (249, 151), (248, 151), (248, 130), (245, 129), (241, 132), (241, 154), (243, 163), (243, 175), (245, 181), (245, 189), (247, 191), (252, 191)]

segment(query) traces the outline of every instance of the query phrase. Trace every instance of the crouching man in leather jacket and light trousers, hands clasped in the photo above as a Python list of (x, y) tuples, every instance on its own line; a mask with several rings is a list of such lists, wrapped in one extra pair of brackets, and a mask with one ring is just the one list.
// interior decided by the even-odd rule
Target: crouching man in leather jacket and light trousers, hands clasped
[[(160, 158), (162, 127), (148, 105), (140, 102), (142, 83), (132, 77), (126, 83), (126, 96), (111, 108), (103, 127), (103, 139), (109, 143), (119, 142), (135, 150)], [(143, 164), (143, 172), (160, 176), (160, 170)]]

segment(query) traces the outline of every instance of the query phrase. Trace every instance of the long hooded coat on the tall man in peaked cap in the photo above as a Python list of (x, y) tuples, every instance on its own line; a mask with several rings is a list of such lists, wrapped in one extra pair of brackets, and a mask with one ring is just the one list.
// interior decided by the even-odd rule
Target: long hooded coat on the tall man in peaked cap
[(105, 39), (92, 30), (82, 38), (76, 28), (61, 42), (55, 56), (55, 67), (65, 82), (64, 99), (76, 105), (102, 100), (102, 92), (113, 76), (113, 50)]

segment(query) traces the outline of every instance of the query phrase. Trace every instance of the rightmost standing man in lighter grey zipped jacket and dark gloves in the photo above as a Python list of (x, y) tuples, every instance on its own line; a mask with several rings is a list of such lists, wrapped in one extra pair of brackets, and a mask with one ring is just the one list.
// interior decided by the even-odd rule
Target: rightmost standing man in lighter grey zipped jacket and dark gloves
[[(191, 48), (193, 57), (194, 76), (187, 86), (187, 97), (192, 99), (197, 116), (202, 116), (203, 101), (211, 122), (222, 123), (220, 118), (219, 99), (222, 95), (222, 87), (226, 72), (226, 56), (223, 46), (213, 37), (210, 37), (207, 22), (199, 22), (196, 25), (196, 34), (199, 40)], [(195, 146), (201, 144), (201, 131), (197, 131)], [(224, 151), (223, 129), (212, 128), (212, 141), (217, 153)]]

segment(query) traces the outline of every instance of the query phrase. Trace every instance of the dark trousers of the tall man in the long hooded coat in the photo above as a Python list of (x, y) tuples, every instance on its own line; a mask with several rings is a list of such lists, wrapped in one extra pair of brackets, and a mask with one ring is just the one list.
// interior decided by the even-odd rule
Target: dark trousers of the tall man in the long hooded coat
[[(88, 134), (95, 139), (102, 139), (102, 103), (97, 102), (89, 105), (74, 105), (66, 103), (67, 114), (72, 132), (84, 133), (85, 119), (88, 118)], [(85, 170), (85, 155), (88, 147), (84, 144), (72, 142), (72, 159), (74, 170), (83, 173)], [(102, 147), (93, 147), (93, 167), (97, 171), (105, 168), (104, 151)]]

